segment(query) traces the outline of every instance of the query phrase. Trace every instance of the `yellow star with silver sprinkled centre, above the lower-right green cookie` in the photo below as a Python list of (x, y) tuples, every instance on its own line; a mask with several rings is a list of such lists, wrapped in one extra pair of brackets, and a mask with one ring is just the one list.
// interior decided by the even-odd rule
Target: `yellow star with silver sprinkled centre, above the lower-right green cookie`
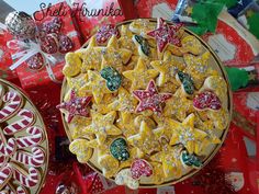
[(182, 144), (189, 153), (199, 155), (199, 141), (206, 137), (206, 133), (194, 128), (194, 114), (190, 114), (182, 123), (174, 122), (170, 145)]

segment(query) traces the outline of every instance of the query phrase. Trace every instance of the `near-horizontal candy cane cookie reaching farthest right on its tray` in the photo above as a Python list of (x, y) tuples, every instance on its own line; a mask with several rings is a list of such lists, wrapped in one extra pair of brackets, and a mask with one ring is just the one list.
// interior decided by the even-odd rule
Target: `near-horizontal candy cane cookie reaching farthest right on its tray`
[(45, 160), (45, 151), (42, 148), (33, 147), (32, 153), (26, 151), (16, 151), (12, 159), (25, 166), (41, 167)]

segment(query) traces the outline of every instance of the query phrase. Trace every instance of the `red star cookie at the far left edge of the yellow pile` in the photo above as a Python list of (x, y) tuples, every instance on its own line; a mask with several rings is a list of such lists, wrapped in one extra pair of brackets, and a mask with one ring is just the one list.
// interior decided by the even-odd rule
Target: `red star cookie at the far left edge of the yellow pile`
[(89, 110), (87, 106), (91, 102), (91, 96), (78, 98), (72, 90), (70, 93), (70, 100), (57, 105), (57, 109), (65, 110), (67, 112), (67, 122), (70, 123), (75, 116), (89, 116)]

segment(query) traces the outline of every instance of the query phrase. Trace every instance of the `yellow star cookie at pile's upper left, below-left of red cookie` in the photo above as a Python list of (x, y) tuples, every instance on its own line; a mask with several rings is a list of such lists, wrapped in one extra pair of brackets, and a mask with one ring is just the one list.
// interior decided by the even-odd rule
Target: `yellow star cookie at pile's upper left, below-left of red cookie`
[(76, 52), (76, 54), (82, 59), (81, 72), (101, 69), (102, 47), (97, 47), (95, 45), (95, 36), (92, 36), (87, 48), (82, 48)]

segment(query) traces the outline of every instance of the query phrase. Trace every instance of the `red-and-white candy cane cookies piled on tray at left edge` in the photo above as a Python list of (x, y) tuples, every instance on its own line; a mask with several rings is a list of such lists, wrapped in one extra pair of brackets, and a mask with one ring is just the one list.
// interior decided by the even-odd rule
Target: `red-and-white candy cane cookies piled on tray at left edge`
[(32, 104), (0, 82), (0, 193), (38, 193), (47, 167), (47, 138)]

